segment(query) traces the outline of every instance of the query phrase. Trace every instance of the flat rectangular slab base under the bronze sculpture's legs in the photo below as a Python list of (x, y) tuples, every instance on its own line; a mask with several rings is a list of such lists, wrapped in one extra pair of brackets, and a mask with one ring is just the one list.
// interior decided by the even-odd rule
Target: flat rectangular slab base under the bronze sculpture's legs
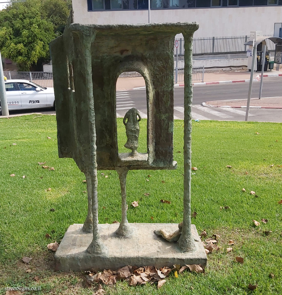
[(172, 267), (179, 263), (207, 264), (207, 255), (199, 238), (196, 227), (191, 225), (196, 247), (192, 252), (183, 252), (177, 242), (168, 242), (157, 236), (154, 230), (165, 228), (169, 231), (178, 229), (176, 223), (131, 223), (134, 233), (130, 238), (116, 235), (119, 223), (99, 224), (100, 237), (108, 248), (108, 253), (94, 255), (86, 252), (92, 241), (92, 233), (84, 233), (83, 224), (72, 224), (65, 233), (55, 254), (56, 271), (81, 271), (89, 268), (97, 270), (116, 270), (126, 265), (157, 268)]

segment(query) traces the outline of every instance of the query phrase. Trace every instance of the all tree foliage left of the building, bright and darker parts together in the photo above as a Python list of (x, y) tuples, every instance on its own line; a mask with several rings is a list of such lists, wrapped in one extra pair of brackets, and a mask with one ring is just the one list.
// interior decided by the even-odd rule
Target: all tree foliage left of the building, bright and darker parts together
[(63, 32), (69, 8), (64, 0), (27, 0), (0, 11), (1, 53), (29, 71), (50, 57), (49, 43)]

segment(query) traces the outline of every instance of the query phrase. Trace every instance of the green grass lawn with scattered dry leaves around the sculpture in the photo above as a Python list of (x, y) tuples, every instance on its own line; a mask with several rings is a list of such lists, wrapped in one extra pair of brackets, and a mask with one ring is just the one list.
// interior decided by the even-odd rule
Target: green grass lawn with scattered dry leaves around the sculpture
[[(0, 117), (0, 294), (5, 294), (6, 286), (41, 286), (34, 294), (92, 294), (95, 287), (83, 288), (80, 273), (53, 272), (54, 253), (47, 250), (47, 244), (60, 242), (70, 224), (84, 222), (86, 185), (72, 159), (58, 158), (55, 116), (34, 117)], [(146, 151), (146, 120), (140, 123), (139, 150)], [(118, 119), (118, 132), (124, 152), (122, 119)], [(130, 287), (119, 282), (104, 286), (106, 294), (282, 294), (281, 135), (281, 123), (193, 122), (192, 166), (198, 170), (192, 171), (191, 205), (198, 214), (192, 223), (199, 233), (220, 235), (220, 250), (208, 254), (205, 274), (184, 271), (178, 278), (171, 274), (160, 290), (156, 285)], [(178, 162), (175, 171), (129, 171), (127, 201), (139, 201), (138, 207), (128, 207), (129, 222), (181, 222), (182, 120), (174, 121), (174, 160)], [(45, 161), (55, 170), (42, 169), (37, 163)], [(120, 220), (115, 171), (98, 171), (98, 194), (99, 222)], [(160, 199), (171, 204), (162, 204)], [(220, 208), (225, 206), (229, 209)], [(50, 212), (51, 208), (55, 211)], [(268, 219), (267, 224), (262, 218)], [(253, 227), (252, 219), (260, 226)], [(265, 236), (265, 230), (272, 233)], [(52, 240), (45, 238), (46, 233)], [(227, 253), (230, 239), (235, 244)], [(29, 265), (21, 262), (23, 256), (33, 258)], [(244, 263), (236, 263), (236, 256), (243, 257)], [(31, 272), (26, 273), (27, 269)], [(258, 287), (249, 291), (249, 283)]]

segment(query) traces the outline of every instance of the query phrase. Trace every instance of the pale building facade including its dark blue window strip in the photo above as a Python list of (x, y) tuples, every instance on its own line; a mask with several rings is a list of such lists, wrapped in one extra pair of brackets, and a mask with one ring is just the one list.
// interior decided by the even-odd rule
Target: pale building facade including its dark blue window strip
[[(76, 23), (148, 23), (148, 0), (72, 0), (72, 7)], [(151, 0), (151, 23), (193, 21), (194, 37), (273, 34), (282, 0)]]

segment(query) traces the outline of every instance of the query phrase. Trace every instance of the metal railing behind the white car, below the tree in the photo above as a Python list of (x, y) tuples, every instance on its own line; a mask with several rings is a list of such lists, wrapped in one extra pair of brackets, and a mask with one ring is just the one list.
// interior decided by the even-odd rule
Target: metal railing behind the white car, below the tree
[(53, 87), (53, 73), (51, 72), (8, 72), (4, 76), (9, 79), (28, 80), (43, 87)]

